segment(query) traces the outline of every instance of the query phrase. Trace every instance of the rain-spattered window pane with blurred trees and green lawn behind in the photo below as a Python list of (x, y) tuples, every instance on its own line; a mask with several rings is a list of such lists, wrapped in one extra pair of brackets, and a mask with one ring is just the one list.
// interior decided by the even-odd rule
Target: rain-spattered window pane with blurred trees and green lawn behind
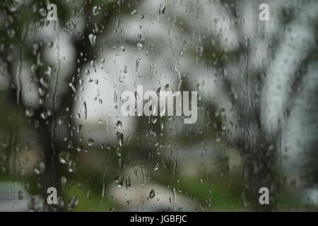
[[(0, 210), (318, 210), (317, 28), (314, 0), (1, 1)], [(196, 124), (123, 117), (137, 85), (197, 91)]]

